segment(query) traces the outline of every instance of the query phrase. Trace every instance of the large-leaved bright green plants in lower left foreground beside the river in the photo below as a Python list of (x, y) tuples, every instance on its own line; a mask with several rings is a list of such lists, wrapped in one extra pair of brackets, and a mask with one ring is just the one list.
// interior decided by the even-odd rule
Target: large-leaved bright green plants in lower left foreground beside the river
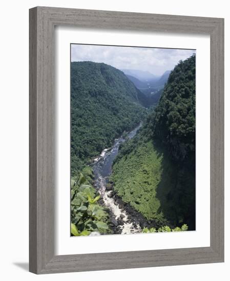
[[(84, 171), (88, 171), (89, 168)], [(91, 175), (91, 173), (90, 173)], [(97, 204), (100, 196), (86, 176), (76, 172), (71, 179), (71, 233), (73, 236), (87, 236), (92, 231), (108, 233), (108, 214)]]

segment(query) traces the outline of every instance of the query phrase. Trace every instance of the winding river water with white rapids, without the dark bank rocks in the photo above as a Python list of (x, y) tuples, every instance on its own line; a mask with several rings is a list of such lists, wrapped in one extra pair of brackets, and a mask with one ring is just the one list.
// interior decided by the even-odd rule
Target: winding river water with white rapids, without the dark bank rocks
[[(129, 132), (126, 139), (131, 139), (135, 136), (138, 129), (141, 127), (139, 124), (134, 130)], [(122, 204), (118, 204), (113, 195), (113, 191), (106, 189), (106, 184), (109, 181), (109, 176), (112, 173), (112, 164), (118, 154), (119, 146), (121, 143), (126, 142), (126, 139), (120, 136), (116, 138), (111, 148), (104, 149), (99, 157), (94, 159), (93, 171), (95, 176), (95, 188), (99, 192), (103, 204), (110, 209), (112, 215), (112, 222), (116, 230), (121, 234), (139, 233), (141, 231), (140, 225), (132, 221), (126, 209)]]

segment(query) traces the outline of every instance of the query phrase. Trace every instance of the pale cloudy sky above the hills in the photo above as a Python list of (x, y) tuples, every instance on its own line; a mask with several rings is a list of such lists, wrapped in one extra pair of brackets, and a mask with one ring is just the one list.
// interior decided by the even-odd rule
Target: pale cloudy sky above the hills
[(71, 44), (71, 61), (104, 62), (118, 69), (138, 69), (160, 76), (194, 50)]

